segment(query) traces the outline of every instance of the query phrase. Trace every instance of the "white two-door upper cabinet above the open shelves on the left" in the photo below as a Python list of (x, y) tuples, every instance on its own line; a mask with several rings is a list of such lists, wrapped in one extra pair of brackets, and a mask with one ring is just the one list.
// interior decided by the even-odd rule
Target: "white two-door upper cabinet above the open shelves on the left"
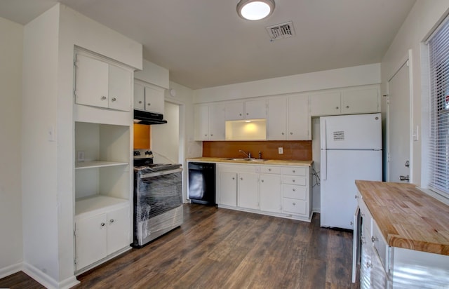
[(77, 54), (75, 70), (76, 104), (130, 111), (133, 76), (130, 69)]

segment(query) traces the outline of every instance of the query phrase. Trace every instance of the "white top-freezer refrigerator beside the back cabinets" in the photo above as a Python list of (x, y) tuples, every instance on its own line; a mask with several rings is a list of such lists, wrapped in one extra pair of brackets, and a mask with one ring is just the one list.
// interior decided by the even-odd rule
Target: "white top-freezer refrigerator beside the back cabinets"
[(353, 229), (355, 180), (382, 181), (380, 114), (320, 118), (321, 227)]

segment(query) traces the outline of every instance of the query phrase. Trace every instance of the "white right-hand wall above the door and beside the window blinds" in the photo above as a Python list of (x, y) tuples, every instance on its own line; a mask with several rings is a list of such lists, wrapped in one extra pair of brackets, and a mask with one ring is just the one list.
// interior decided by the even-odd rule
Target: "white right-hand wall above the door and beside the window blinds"
[[(429, 34), (434, 31), (439, 22), (447, 15), (449, 1), (447, 0), (419, 0), (416, 1), (410, 14), (403, 23), (398, 34), (391, 43), (387, 53), (382, 59), (382, 94), (387, 93), (387, 83), (391, 76), (399, 68), (401, 62), (406, 58), (408, 50), (412, 51), (411, 70), (413, 79), (412, 90), (412, 123), (411, 126), (420, 128), (420, 137), (418, 141), (413, 142), (411, 147), (412, 158), (410, 171), (413, 183), (422, 187), (427, 187), (426, 182), (422, 182), (422, 175), (427, 173), (427, 159), (422, 159), (422, 148), (427, 141), (427, 118), (428, 112), (426, 105), (428, 103), (426, 72), (422, 69), (423, 53), (422, 42), (427, 39)], [(424, 85), (424, 86), (423, 86)], [(383, 100), (384, 101), (384, 100)], [(423, 105), (424, 104), (424, 105)], [(408, 104), (405, 104), (408, 105)], [(382, 112), (385, 114), (386, 104), (382, 103)], [(406, 117), (406, 116), (404, 116)], [(411, 136), (410, 136), (411, 137)], [(424, 153), (425, 154), (425, 153)]]

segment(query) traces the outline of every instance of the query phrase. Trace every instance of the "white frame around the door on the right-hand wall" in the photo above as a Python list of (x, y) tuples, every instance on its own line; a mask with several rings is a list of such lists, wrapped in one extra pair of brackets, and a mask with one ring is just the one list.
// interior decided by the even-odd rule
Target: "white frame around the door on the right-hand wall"
[(386, 177), (387, 177), (387, 182), (389, 182), (390, 180), (390, 105), (389, 105), (389, 82), (391, 81), (391, 79), (394, 78), (394, 76), (399, 72), (399, 70), (401, 70), (401, 68), (404, 65), (408, 65), (408, 83), (409, 83), (409, 87), (408, 87), (408, 91), (409, 91), (409, 95), (408, 95), (408, 103), (409, 103), (409, 112), (408, 112), (408, 146), (409, 146), (409, 156), (408, 159), (410, 161), (410, 167), (409, 167), (409, 180), (408, 182), (413, 183), (413, 137), (416, 138), (418, 137), (418, 132), (416, 132), (416, 134), (413, 134), (413, 58), (412, 58), (412, 50), (409, 49), (408, 53), (406, 56), (404, 56), (401, 60), (401, 62), (399, 62), (399, 64), (396, 66), (396, 68), (393, 70), (393, 73), (391, 74), (391, 76), (388, 78), (387, 81), (387, 95), (384, 95), (387, 97), (387, 166), (385, 166), (385, 170), (386, 170)]

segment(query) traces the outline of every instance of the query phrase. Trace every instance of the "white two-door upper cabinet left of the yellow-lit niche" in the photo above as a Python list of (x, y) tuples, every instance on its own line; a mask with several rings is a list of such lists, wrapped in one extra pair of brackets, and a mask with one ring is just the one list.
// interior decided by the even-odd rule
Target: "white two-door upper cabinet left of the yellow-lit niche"
[(195, 106), (195, 140), (225, 140), (225, 105)]

